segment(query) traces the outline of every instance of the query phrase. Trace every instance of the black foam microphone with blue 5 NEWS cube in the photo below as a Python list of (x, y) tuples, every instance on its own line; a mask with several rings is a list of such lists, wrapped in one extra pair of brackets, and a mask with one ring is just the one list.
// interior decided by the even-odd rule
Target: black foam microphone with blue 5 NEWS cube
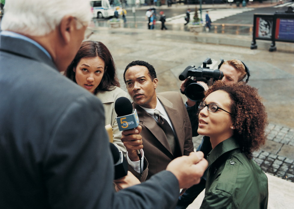
[(139, 126), (137, 110), (133, 109), (132, 103), (127, 97), (119, 97), (114, 104), (114, 109), (117, 114), (116, 121), (120, 131)]

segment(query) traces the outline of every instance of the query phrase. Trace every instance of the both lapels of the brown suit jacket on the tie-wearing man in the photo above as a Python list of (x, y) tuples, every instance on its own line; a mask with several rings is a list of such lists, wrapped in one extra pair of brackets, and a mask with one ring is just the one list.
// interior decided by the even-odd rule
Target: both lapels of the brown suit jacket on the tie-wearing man
[[(163, 96), (157, 94), (158, 100), (162, 103), (164, 106), (165, 111), (167, 112), (170, 121), (173, 125), (174, 132), (177, 136), (179, 147), (182, 155), (184, 154), (184, 140), (179, 140), (178, 136), (182, 136), (184, 133), (182, 132), (181, 127), (179, 127), (176, 122), (180, 121), (180, 117), (178, 114), (177, 109), (173, 108), (173, 103), (171, 103), (169, 100), (164, 98)], [(147, 128), (149, 131), (155, 136), (155, 138), (160, 141), (160, 143), (170, 152), (171, 155), (173, 155), (172, 150), (170, 148), (170, 145), (167, 141), (167, 137), (164, 133), (164, 131), (161, 129), (160, 126), (158, 126), (156, 120), (152, 118), (151, 115), (149, 115), (144, 109), (142, 109), (140, 106), (133, 103), (133, 107), (137, 109), (137, 114), (139, 117), (140, 122)]]

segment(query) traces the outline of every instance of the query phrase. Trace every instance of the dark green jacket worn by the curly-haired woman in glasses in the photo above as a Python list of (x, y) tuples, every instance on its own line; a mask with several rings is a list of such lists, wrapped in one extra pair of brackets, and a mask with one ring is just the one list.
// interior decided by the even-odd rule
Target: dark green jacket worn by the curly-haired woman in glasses
[(207, 156), (205, 197), (200, 208), (267, 208), (268, 179), (256, 162), (241, 152), (233, 137)]

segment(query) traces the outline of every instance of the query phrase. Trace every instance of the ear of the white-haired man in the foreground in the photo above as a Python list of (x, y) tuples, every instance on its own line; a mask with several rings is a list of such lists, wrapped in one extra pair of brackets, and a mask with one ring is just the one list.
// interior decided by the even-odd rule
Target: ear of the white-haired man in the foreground
[(76, 20), (73, 16), (66, 15), (61, 19), (59, 25), (59, 31), (61, 35), (61, 39), (65, 44), (70, 42), (71, 33), (76, 27)]

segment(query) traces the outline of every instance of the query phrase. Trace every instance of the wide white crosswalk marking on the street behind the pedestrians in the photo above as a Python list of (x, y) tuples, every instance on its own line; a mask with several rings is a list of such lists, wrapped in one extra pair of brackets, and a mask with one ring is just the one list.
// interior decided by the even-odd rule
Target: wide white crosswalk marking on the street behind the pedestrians
[[(209, 11), (208, 15), (209, 15), (211, 21), (214, 22), (216, 20), (219, 20), (219, 19), (222, 19), (225, 17), (233, 16), (235, 14), (239, 14), (239, 13), (247, 12), (247, 11), (251, 11), (251, 10), (254, 10), (254, 8), (218, 9), (218, 10), (206, 9), (206, 10), (202, 10), (202, 20), (203, 20), (203, 22), (205, 22), (206, 11)], [(194, 14), (195, 14), (195, 12), (190, 12), (190, 19), (193, 19)], [(186, 14), (173, 16), (173, 17), (167, 18), (166, 21), (169, 23), (173, 23), (173, 24), (186, 23), (186, 21), (184, 20), (185, 16), (186, 16)], [(198, 17), (200, 17), (199, 10), (198, 10)]]

